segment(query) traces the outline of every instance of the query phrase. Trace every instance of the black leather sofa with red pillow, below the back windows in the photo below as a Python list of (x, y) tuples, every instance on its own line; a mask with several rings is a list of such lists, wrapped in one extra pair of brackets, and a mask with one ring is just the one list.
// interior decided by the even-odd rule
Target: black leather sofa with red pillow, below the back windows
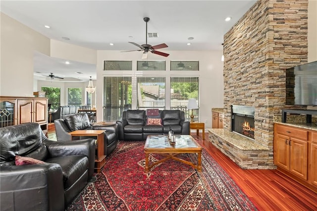
[[(161, 119), (161, 125), (147, 124), (150, 118)], [(168, 134), (170, 127), (175, 134), (190, 134), (189, 121), (181, 110), (159, 110), (155, 116), (146, 115), (145, 110), (127, 110), (116, 123), (119, 140), (146, 140), (148, 135)]]

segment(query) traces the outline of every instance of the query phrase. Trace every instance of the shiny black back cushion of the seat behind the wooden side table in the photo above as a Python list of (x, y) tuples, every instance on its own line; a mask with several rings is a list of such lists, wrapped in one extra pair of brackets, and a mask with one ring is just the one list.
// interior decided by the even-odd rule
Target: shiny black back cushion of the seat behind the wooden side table
[(88, 115), (86, 113), (67, 115), (65, 116), (64, 121), (71, 131), (92, 129)]

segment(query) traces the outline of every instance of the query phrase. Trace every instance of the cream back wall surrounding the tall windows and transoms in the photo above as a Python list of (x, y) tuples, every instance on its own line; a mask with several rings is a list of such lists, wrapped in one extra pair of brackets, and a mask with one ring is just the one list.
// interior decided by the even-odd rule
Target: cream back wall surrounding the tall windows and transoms
[[(166, 87), (170, 86), (170, 76), (200, 77), (200, 121), (206, 128), (211, 128), (211, 108), (223, 107), (223, 62), (222, 51), (163, 51), (168, 57), (149, 53), (148, 60), (165, 60), (166, 71), (136, 71), (137, 60), (141, 60), (142, 52), (98, 51), (97, 78), (105, 76), (131, 76), (133, 74), (155, 75), (166, 77)], [(104, 60), (132, 60), (132, 71), (104, 71)], [(170, 71), (170, 60), (199, 60), (200, 71)], [(103, 87), (103, 80), (97, 80), (97, 86)], [(169, 96), (165, 96), (166, 109), (169, 108)], [(97, 109), (103, 106), (103, 92), (97, 90)], [(132, 108), (136, 108), (132, 104)], [(101, 112), (97, 112), (97, 121), (102, 120)]]

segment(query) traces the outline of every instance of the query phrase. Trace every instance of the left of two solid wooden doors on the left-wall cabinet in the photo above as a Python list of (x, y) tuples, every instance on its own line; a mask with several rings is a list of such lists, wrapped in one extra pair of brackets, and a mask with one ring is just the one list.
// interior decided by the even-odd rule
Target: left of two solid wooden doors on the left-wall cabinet
[(18, 100), (18, 124), (33, 121), (33, 100)]

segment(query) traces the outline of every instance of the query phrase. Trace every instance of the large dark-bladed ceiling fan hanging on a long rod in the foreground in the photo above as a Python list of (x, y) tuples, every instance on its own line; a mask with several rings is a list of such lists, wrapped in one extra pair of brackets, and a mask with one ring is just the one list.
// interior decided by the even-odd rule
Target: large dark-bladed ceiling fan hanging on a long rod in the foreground
[(131, 43), (131, 44), (139, 47), (140, 50), (132, 50), (132, 51), (124, 51), (124, 52), (143, 51), (142, 59), (148, 58), (149, 52), (167, 57), (169, 55), (168, 53), (156, 51), (157, 49), (167, 48), (168, 46), (165, 43), (162, 43), (162, 44), (159, 44), (156, 46), (151, 46), (148, 44), (148, 22), (149, 22), (150, 18), (145, 17), (145, 18), (143, 18), (143, 20), (146, 23), (145, 44), (139, 45), (137, 43), (128, 42), (128, 43)]

